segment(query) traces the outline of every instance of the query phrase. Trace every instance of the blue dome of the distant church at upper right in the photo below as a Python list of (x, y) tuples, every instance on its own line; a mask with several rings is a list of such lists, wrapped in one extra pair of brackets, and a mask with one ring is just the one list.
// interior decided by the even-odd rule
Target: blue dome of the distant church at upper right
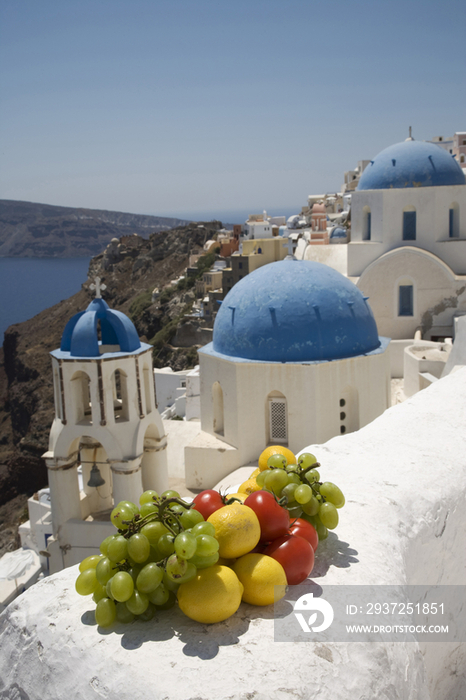
[(460, 166), (450, 153), (426, 141), (403, 141), (381, 151), (364, 170), (358, 190), (464, 185)]

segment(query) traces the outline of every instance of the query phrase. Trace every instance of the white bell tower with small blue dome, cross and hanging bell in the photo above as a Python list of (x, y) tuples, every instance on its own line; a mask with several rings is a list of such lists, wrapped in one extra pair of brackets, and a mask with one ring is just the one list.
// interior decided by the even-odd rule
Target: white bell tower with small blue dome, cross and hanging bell
[(109, 308), (96, 282), (96, 298), (70, 319), (51, 352), (55, 419), (44, 459), (52, 528), (45, 517), (35, 530), (43, 531), (46, 541), (37, 544), (50, 554), (52, 573), (95, 553), (114, 532), (114, 504), (168, 488), (152, 346)]

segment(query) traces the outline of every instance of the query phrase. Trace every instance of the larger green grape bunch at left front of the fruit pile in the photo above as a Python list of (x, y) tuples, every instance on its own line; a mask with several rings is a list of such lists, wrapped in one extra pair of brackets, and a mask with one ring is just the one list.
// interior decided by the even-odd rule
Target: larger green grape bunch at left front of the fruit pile
[(182, 583), (218, 561), (214, 526), (176, 491), (145, 491), (139, 506), (121, 501), (110, 520), (118, 532), (81, 562), (75, 584), (92, 595), (101, 627), (151, 620), (175, 604)]

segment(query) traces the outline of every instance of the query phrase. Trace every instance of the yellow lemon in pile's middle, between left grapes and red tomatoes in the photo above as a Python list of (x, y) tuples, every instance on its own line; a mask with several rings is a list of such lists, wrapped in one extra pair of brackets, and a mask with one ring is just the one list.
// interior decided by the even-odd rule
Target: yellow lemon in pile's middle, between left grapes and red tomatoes
[(259, 542), (261, 528), (252, 508), (235, 502), (209, 515), (208, 523), (215, 527), (219, 556), (235, 559), (254, 549)]

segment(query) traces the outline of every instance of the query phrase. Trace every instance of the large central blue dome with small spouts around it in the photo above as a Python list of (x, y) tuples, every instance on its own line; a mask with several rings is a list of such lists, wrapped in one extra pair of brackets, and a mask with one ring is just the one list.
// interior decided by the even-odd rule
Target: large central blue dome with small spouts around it
[(263, 362), (337, 360), (380, 346), (360, 290), (327, 265), (282, 260), (255, 270), (227, 294), (212, 349)]

